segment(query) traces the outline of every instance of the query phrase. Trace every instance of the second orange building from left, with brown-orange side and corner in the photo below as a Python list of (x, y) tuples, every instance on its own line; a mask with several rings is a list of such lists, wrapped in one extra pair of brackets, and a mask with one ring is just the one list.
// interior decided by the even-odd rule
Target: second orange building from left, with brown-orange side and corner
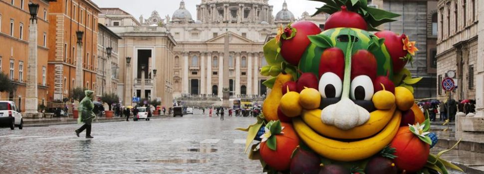
[(48, 100), (69, 98), (75, 87), (77, 37), (82, 38), (83, 87), (96, 85), (97, 31), (99, 7), (91, 0), (57, 0), (50, 2), (48, 43)]

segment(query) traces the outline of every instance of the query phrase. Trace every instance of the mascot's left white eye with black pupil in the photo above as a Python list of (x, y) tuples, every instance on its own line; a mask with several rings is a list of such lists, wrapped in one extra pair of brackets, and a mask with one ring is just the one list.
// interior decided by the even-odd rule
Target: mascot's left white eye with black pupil
[(323, 98), (341, 97), (343, 82), (334, 73), (324, 73), (319, 80), (319, 93)]

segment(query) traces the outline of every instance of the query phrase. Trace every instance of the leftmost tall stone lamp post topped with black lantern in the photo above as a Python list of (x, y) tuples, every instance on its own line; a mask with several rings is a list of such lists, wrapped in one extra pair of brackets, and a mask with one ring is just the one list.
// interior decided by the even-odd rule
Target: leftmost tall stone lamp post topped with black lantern
[(29, 3), (30, 27), (28, 28), (28, 67), (25, 112), (37, 113), (37, 11), (38, 3)]

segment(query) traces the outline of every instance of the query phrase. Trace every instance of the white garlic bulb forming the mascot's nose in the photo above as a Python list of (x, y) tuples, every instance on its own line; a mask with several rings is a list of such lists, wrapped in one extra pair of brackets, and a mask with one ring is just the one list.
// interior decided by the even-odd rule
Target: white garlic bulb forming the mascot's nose
[(365, 124), (368, 119), (370, 119), (370, 112), (355, 104), (349, 98), (343, 98), (321, 111), (323, 123), (334, 125), (341, 130), (349, 130)]

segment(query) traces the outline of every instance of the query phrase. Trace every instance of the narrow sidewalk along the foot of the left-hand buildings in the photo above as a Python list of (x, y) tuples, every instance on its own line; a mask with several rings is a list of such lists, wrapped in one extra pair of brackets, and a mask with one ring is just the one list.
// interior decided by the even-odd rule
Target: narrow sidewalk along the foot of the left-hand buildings
[[(164, 118), (169, 117), (170, 115), (153, 115), (151, 118)], [(100, 123), (100, 122), (113, 122), (113, 121), (125, 121), (126, 117), (97, 117), (93, 120), (93, 123)], [(133, 120), (131, 116), (130, 120)], [(72, 117), (57, 117), (57, 118), (23, 118), (23, 126), (25, 127), (34, 127), (34, 126), (50, 126), (50, 125), (59, 125), (59, 124), (77, 124), (77, 119)]]

